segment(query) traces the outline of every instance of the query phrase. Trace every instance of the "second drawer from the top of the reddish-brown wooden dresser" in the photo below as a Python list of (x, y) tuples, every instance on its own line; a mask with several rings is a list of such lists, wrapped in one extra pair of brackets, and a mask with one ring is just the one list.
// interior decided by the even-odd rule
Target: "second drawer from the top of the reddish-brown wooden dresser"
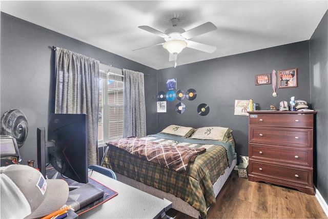
[(267, 143), (295, 147), (312, 147), (312, 129), (249, 127), (250, 143)]

